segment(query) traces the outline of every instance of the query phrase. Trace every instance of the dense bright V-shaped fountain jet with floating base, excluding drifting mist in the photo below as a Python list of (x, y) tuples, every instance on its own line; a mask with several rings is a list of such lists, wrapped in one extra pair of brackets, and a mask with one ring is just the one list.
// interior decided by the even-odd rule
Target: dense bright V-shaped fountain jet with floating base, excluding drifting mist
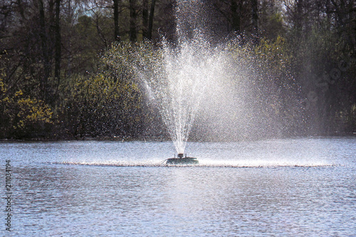
[(224, 68), (221, 51), (205, 40), (201, 26), (194, 25), (197, 21), (192, 17), (201, 14), (198, 5), (178, 1), (177, 43), (172, 46), (163, 39), (162, 47), (155, 50), (159, 56), (151, 65), (142, 60), (135, 64), (135, 74), (144, 82), (147, 97), (159, 108), (178, 154), (164, 164), (199, 164), (197, 158), (184, 157), (184, 149), (206, 86)]

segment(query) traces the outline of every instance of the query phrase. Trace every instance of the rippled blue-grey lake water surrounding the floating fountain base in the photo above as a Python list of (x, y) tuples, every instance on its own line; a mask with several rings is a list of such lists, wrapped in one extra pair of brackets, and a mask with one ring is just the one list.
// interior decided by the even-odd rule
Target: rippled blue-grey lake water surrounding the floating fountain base
[[(356, 137), (1, 142), (8, 236), (355, 236)], [(9, 211), (8, 211), (9, 212)]]

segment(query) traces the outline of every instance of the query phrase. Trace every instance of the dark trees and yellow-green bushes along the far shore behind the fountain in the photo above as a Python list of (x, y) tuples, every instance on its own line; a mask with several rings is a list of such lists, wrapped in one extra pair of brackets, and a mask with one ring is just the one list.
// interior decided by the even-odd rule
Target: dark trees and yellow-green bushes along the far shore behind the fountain
[[(300, 125), (286, 127), (293, 131), (285, 135), (356, 132), (355, 1), (198, 2), (209, 41), (239, 38), (240, 47), (265, 57), (274, 70), (281, 61), (288, 63), (286, 77), (293, 76), (290, 87), (298, 88), (300, 101), (289, 113)], [(120, 54), (142, 42), (155, 45), (162, 37), (177, 41), (176, 4), (1, 1), (0, 138), (166, 136), (130, 70), (109, 60), (112, 48)], [(281, 80), (277, 74), (268, 80)]]

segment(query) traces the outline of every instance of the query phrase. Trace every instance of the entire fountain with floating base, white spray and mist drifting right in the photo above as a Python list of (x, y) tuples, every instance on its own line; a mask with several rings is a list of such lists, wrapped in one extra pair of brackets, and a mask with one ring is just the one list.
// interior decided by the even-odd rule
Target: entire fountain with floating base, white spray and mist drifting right
[(290, 83), (293, 78), (276, 80), (279, 72), (273, 66), (269, 73), (264, 54), (240, 46), (239, 38), (208, 41), (202, 7), (197, 0), (177, 1), (174, 43), (162, 38), (158, 46), (130, 44), (112, 56), (137, 79), (167, 127), (178, 155), (165, 164), (198, 163), (183, 155), (194, 124), (196, 140), (214, 141), (278, 136), (281, 127), (295, 126), (291, 115), (298, 111), (298, 84)]

